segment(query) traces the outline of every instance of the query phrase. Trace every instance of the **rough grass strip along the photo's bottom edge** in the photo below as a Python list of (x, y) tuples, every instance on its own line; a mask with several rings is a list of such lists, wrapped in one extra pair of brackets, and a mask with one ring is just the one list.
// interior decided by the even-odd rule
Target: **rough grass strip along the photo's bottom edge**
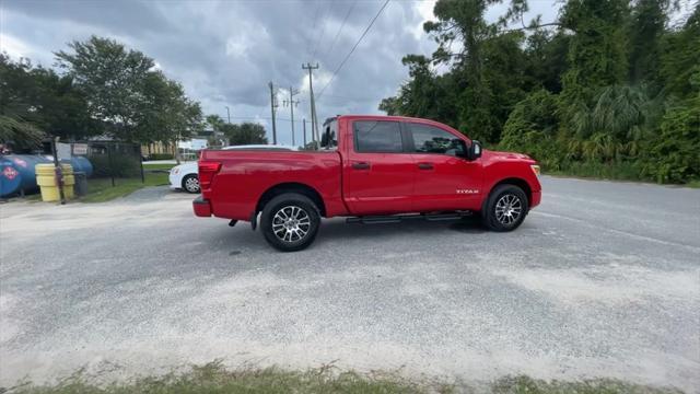
[[(465, 384), (436, 380), (409, 380), (395, 373), (338, 372), (327, 366), (303, 372), (278, 368), (226, 370), (220, 361), (192, 367), (184, 373), (161, 376), (141, 376), (126, 382), (94, 383), (83, 371), (60, 380), (56, 384), (37, 385), (20, 382), (14, 387), (0, 387), (0, 393), (19, 394), (126, 394), (126, 393), (474, 393), (498, 394), (616, 394), (616, 393), (680, 393), (674, 389), (651, 387), (617, 380), (586, 380), (579, 382), (541, 381), (528, 376), (506, 376), (476, 389)], [(104, 380), (101, 380), (104, 382)]]

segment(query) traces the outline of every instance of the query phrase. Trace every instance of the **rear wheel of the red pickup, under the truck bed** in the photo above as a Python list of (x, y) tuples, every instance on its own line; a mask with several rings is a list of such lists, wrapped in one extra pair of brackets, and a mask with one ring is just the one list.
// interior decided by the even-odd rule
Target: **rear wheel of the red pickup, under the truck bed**
[(311, 245), (319, 224), (320, 215), (314, 201), (296, 193), (284, 193), (272, 198), (265, 205), (260, 216), (265, 240), (282, 252), (301, 251)]

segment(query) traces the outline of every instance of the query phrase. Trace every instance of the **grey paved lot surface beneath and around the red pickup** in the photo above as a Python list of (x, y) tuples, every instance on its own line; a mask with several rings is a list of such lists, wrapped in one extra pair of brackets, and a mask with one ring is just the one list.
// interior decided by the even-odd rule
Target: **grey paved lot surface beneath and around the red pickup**
[(0, 384), (224, 358), (700, 387), (700, 190), (544, 178), (513, 233), (326, 221), (280, 254), (152, 188), (0, 206)]

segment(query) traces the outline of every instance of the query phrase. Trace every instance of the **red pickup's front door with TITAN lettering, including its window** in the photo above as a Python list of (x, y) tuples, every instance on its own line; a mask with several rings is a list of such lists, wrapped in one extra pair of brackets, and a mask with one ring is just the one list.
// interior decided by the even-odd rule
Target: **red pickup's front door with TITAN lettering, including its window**
[(481, 164), (464, 159), (460, 139), (433, 125), (405, 123), (412, 140), (413, 209), (420, 212), (479, 209)]

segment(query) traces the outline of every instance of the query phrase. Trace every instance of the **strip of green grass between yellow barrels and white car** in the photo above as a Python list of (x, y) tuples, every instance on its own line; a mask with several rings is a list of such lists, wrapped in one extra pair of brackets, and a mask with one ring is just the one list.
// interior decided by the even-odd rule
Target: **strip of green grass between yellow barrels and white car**
[(112, 186), (110, 178), (88, 179), (88, 195), (78, 199), (82, 202), (104, 202), (115, 198), (128, 196), (131, 193), (145, 186), (167, 185), (167, 173), (144, 174), (144, 183), (141, 178), (115, 178), (115, 186)]

